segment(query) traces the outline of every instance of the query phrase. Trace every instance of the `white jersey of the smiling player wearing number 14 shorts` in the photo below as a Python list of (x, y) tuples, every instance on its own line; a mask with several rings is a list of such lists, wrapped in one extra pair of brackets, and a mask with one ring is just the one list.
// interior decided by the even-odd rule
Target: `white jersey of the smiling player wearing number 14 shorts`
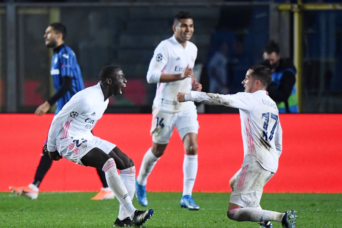
[(177, 102), (177, 92), (190, 92), (192, 90), (191, 78), (174, 82), (159, 82), (161, 73), (180, 74), (187, 65), (194, 68), (197, 57), (197, 47), (190, 41), (185, 48), (171, 37), (159, 43), (151, 59), (147, 72), (149, 83), (158, 83), (156, 97), (153, 104), (161, 111), (174, 113), (184, 110), (189, 106), (195, 106), (192, 102)]

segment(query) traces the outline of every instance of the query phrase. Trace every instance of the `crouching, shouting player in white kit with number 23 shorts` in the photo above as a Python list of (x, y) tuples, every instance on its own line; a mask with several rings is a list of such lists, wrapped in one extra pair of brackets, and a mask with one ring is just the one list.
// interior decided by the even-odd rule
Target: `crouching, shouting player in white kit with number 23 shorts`
[[(44, 149), (52, 160), (64, 157), (76, 164), (102, 169), (108, 186), (120, 202), (114, 226), (140, 226), (154, 211), (138, 211), (132, 204), (135, 191), (133, 161), (115, 144), (90, 132), (106, 110), (108, 97), (121, 94), (127, 81), (122, 70), (115, 66), (103, 67), (98, 77), (97, 85), (75, 94), (53, 118)], [(120, 170), (120, 176), (116, 169)]]

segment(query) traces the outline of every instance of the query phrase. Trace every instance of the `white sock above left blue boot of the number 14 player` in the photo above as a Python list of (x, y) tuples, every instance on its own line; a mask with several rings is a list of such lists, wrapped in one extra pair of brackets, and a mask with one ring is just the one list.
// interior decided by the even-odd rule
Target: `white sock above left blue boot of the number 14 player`
[(136, 178), (136, 182), (140, 185), (145, 186), (147, 183), (147, 177), (152, 172), (153, 167), (157, 163), (159, 158), (157, 158), (153, 153), (151, 148), (147, 150), (144, 155), (143, 161), (141, 163), (139, 175)]

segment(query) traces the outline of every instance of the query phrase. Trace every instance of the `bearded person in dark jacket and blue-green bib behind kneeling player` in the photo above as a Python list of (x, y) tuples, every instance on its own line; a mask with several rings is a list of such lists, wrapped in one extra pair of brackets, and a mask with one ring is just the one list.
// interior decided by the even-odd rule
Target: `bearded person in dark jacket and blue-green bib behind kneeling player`
[(268, 86), (269, 96), (277, 103), (279, 113), (298, 113), (298, 102), (295, 88), (297, 73), (293, 61), (280, 58), (279, 45), (273, 40), (264, 48), (262, 65), (272, 72), (272, 83)]

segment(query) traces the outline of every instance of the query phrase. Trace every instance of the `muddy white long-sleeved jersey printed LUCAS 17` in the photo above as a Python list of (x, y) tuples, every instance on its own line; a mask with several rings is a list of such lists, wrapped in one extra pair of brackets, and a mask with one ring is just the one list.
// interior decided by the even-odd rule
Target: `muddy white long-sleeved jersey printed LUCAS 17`
[(239, 108), (244, 142), (242, 167), (258, 161), (265, 170), (277, 171), (282, 150), (282, 129), (278, 108), (267, 91), (228, 95), (192, 91), (185, 94), (185, 100)]

